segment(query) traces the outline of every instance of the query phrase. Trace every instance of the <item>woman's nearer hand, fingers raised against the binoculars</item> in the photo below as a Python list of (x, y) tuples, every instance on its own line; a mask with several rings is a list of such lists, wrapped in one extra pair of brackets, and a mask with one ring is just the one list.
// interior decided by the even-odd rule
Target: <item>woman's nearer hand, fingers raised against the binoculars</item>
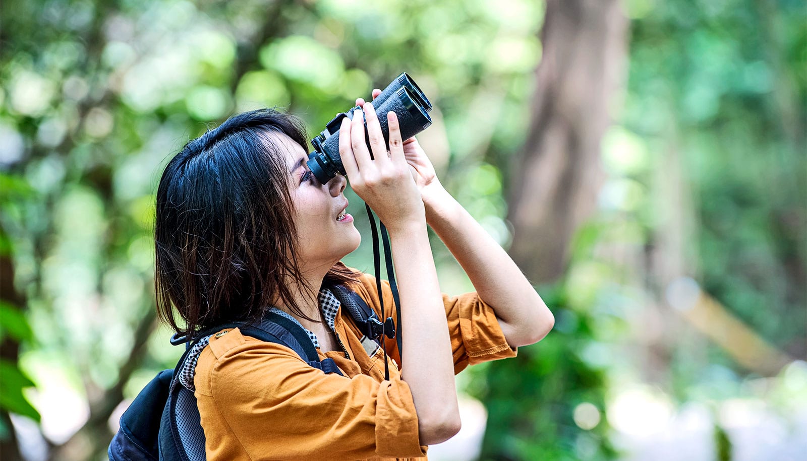
[[(365, 142), (365, 118), (373, 158), (370, 158), (370, 150)], [(339, 155), (353, 191), (393, 232), (409, 224), (423, 222), (425, 225), (425, 210), (420, 191), (403, 155), (403, 140), (394, 111), (387, 114), (387, 126), (390, 134), (389, 155), (375, 108), (371, 102), (366, 102), (363, 110), (353, 114), (352, 121), (347, 117), (342, 119)]]

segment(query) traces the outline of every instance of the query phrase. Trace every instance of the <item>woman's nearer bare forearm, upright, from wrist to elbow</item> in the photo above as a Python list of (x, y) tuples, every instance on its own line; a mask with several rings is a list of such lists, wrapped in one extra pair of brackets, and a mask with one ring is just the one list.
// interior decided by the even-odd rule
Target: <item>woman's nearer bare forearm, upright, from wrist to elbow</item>
[[(445, 440), (459, 423), (454, 360), (424, 218), (390, 230), (401, 303), (403, 380), (412, 389), (421, 443)], [(458, 429), (458, 427), (456, 428)]]

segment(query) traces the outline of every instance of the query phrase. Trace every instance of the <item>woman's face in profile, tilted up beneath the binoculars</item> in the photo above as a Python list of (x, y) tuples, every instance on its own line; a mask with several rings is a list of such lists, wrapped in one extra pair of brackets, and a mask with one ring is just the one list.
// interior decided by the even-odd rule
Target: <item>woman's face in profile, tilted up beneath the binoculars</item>
[(307, 152), (286, 135), (278, 135), (286, 147), (286, 164), (291, 172), (291, 200), (295, 206), (298, 264), (303, 271), (327, 271), (362, 242), (353, 217), (347, 214), (348, 200), (342, 193), (347, 181), (337, 175), (320, 184), (308, 170)]

